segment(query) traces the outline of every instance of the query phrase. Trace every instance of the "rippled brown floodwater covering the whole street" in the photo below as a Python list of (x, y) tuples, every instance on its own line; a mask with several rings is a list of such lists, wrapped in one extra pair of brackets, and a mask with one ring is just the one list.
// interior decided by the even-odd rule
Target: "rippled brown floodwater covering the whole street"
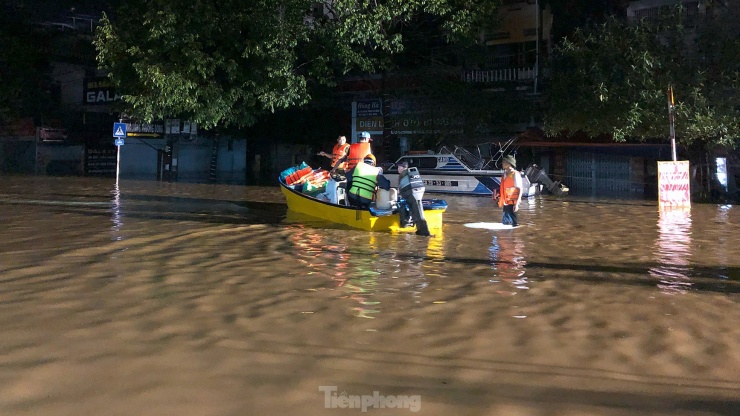
[(0, 177), (0, 415), (740, 414), (740, 209), (444, 198), (425, 238)]

